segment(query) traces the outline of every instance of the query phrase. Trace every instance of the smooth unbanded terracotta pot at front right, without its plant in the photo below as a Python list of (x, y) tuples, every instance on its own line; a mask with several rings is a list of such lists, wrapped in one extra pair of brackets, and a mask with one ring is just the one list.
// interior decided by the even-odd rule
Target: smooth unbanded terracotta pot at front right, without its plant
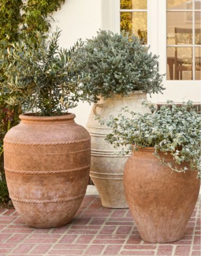
[[(143, 240), (167, 243), (181, 239), (194, 210), (200, 182), (196, 171), (171, 172), (159, 165), (154, 148), (135, 151), (126, 162), (124, 191)], [(165, 156), (172, 161), (172, 156)], [(188, 163), (180, 167), (188, 166)]]

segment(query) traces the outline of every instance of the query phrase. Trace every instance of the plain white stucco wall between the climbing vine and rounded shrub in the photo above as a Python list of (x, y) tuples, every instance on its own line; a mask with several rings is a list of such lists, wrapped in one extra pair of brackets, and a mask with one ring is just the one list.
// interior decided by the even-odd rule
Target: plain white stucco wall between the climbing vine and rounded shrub
[(77, 39), (91, 38), (102, 27), (102, 0), (66, 0), (53, 13), (52, 31), (59, 27), (61, 47), (72, 46)]

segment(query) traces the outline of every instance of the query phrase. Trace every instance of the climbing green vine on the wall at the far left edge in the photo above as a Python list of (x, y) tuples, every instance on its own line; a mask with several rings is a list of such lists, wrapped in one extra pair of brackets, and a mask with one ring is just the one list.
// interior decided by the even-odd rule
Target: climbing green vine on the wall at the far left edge
[(19, 123), (18, 117), (21, 113), (21, 105), (9, 106), (7, 96), (3, 93), (5, 76), (1, 56), (5, 54), (10, 43), (18, 41), (25, 34), (29, 33), (29, 38), (33, 41), (36, 31), (47, 34), (51, 27), (51, 14), (63, 3), (65, 0), (0, 1), (0, 204), (9, 200), (3, 169), (3, 138), (11, 127)]

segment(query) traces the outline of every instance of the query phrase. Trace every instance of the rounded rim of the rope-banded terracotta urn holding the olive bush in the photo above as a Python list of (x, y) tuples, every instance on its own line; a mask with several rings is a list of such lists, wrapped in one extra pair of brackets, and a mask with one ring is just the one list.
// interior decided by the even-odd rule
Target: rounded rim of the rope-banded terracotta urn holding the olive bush
[(35, 116), (35, 113), (23, 113), (19, 118), (23, 121), (64, 121), (74, 119), (76, 115), (74, 113), (64, 113), (62, 116)]

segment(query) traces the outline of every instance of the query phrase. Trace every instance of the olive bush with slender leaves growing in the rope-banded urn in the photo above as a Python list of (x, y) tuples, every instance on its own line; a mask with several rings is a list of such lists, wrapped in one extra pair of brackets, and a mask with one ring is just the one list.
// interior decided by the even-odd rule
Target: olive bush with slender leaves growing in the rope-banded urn
[[(10, 105), (22, 105), (24, 111), (42, 116), (60, 115), (74, 108), (79, 99), (84, 100), (80, 83), (85, 81), (71, 55), (82, 42), (70, 50), (59, 49), (60, 31), (47, 40), (35, 32), (35, 40), (29, 35), (13, 43), (3, 55), (3, 94), (10, 95)], [(7, 65), (7, 62), (10, 65)]]

